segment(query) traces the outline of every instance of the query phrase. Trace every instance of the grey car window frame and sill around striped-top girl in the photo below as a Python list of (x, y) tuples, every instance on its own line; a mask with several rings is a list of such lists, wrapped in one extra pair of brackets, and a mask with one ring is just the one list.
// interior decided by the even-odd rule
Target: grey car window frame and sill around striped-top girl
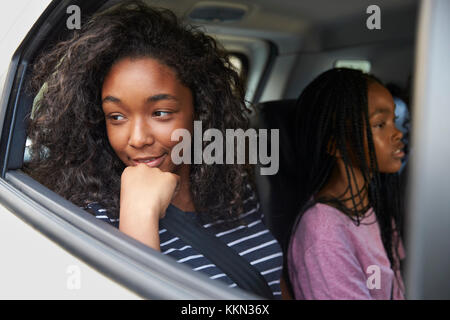
[(2, 205), (71, 255), (143, 298), (257, 298), (238, 288), (230, 290), (148, 248), (22, 172), (23, 162), (27, 161), (24, 119), (36, 98), (26, 90), (30, 67), (42, 50), (70, 32), (66, 27), (69, 6), (76, 5), (83, 16), (90, 16), (105, 4), (106, 1), (51, 2), (14, 53), (1, 105)]

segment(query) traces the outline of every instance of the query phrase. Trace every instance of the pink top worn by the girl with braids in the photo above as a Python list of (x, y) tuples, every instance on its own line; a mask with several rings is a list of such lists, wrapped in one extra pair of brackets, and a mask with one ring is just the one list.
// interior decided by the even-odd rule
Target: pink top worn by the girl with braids
[(308, 209), (289, 244), (288, 270), (296, 299), (404, 299), (372, 209), (359, 226), (331, 206)]

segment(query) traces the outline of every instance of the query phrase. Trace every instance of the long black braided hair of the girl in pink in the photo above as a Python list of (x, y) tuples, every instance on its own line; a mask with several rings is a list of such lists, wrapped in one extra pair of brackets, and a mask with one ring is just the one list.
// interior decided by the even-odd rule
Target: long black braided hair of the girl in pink
[[(298, 98), (296, 145), (302, 209), (300, 214), (293, 213), (290, 219), (295, 230), (302, 213), (320, 202), (339, 209), (359, 225), (372, 207), (387, 256), (396, 270), (400, 267), (397, 257), (401, 234), (398, 226), (401, 225), (404, 205), (398, 173), (387, 174), (378, 170), (368, 114), (368, 86), (371, 83), (383, 85), (376, 77), (358, 70), (331, 69), (315, 78)], [(329, 152), (330, 142), (342, 157), (347, 181), (355, 181), (354, 167), (360, 169), (364, 178), (363, 187), (352, 188), (352, 183), (349, 183), (343, 193), (349, 192), (349, 198), (343, 195), (334, 198), (317, 196), (336, 166), (334, 152)], [(358, 186), (357, 183), (354, 185)], [(365, 199), (369, 200), (367, 206), (362, 205)], [(350, 208), (346, 204), (349, 200), (352, 203)]]

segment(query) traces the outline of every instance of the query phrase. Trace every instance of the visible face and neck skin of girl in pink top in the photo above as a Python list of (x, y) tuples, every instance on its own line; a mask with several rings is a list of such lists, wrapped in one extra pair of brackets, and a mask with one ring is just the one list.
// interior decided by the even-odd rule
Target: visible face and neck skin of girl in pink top
[[(395, 126), (394, 99), (385, 87), (376, 82), (369, 83), (367, 99), (369, 124), (372, 130), (378, 169), (381, 173), (398, 172), (405, 154), (402, 151), (404, 145), (401, 142), (403, 134)], [(367, 144), (365, 152), (366, 159), (368, 159)], [(317, 197), (350, 198), (350, 190), (347, 190), (350, 184), (353, 190), (361, 190), (363, 187), (367, 187), (361, 170), (355, 166), (353, 166), (355, 179), (354, 181), (348, 181), (345, 164), (339, 152), (335, 153), (335, 157), (337, 160), (336, 166), (326, 185), (316, 195)], [(368, 194), (363, 192), (362, 202), (357, 204), (356, 209), (367, 207), (368, 204)], [(351, 199), (345, 201), (344, 205), (349, 209), (353, 208)]]

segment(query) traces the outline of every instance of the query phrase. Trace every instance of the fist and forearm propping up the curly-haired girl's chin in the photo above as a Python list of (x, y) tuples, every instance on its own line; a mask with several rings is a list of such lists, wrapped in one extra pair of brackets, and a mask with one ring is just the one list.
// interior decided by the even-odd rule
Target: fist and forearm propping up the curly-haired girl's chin
[(159, 219), (176, 193), (179, 177), (145, 164), (122, 173), (119, 230), (160, 251)]

